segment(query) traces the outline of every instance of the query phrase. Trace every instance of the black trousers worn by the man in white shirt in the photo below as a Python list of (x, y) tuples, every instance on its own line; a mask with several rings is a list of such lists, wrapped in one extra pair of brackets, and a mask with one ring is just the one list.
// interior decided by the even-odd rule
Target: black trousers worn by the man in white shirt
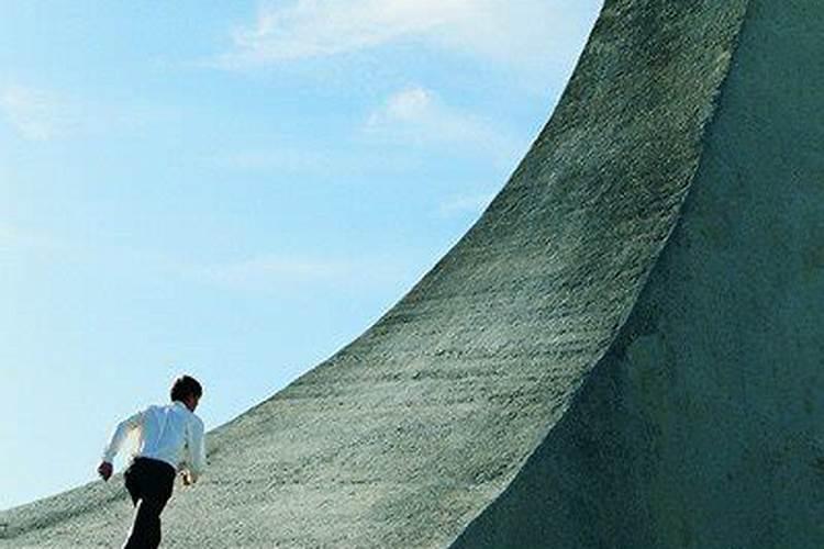
[(135, 514), (123, 549), (155, 549), (160, 545), (160, 513), (171, 497), (175, 474), (170, 464), (148, 458), (135, 459), (126, 470), (126, 490)]

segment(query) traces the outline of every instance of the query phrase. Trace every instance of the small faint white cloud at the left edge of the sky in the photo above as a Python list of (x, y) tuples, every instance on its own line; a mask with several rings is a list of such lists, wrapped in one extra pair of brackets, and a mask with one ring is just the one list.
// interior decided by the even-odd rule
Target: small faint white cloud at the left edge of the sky
[(30, 141), (65, 135), (77, 123), (57, 96), (22, 86), (0, 89), (0, 111), (18, 134)]

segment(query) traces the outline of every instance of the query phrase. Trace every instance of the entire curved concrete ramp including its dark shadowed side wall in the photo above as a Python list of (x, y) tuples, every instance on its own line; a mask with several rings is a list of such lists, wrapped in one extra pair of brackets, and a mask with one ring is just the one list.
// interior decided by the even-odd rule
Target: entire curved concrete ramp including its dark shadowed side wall
[[(608, 1), (489, 210), (211, 434), (165, 546), (824, 547), (821, 21)], [(92, 483), (0, 514), (0, 547), (129, 519)]]

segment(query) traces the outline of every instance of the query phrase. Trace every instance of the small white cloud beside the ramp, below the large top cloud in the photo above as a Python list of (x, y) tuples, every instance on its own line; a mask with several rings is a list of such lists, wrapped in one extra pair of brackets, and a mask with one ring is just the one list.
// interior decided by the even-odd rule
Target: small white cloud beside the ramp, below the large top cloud
[(435, 92), (420, 86), (387, 98), (366, 122), (366, 132), (382, 141), (443, 145), (482, 150), (498, 161), (511, 163), (523, 144), (492, 123), (445, 104)]

